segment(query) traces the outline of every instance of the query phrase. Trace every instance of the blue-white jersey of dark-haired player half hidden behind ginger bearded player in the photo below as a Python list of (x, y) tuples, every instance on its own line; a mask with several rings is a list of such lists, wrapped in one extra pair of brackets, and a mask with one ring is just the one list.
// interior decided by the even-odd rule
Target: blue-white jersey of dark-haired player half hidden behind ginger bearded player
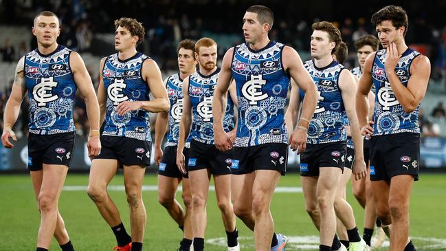
[[(181, 115), (183, 114), (183, 92), (181, 87), (183, 86), (183, 80), (179, 77), (179, 74), (173, 74), (167, 78), (166, 89), (170, 100), (169, 110), (169, 132), (167, 134), (166, 146), (177, 146), (179, 137), (179, 122), (181, 121)], [(186, 140), (186, 147), (190, 147), (190, 141), (192, 140), (192, 134), (189, 134)]]

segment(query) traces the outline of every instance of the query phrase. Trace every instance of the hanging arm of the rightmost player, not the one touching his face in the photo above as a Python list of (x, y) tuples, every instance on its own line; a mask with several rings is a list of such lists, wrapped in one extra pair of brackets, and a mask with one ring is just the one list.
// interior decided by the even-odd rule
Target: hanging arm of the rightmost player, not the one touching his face
[(373, 85), (372, 64), (375, 54), (376, 52), (373, 52), (367, 56), (366, 62), (364, 63), (364, 70), (361, 78), (359, 79), (359, 84), (356, 91), (356, 114), (359, 121), (359, 127), (361, 128), (362, 135), (366, 135), (367, 138), (370, 138), (374, 131), (373, 127), (371, 126), (373, 122), (368, 120), (368, 95)]

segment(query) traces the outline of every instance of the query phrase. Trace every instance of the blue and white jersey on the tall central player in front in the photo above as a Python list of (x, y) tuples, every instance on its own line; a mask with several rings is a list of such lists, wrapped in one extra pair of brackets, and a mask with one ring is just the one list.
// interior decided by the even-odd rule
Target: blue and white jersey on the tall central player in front
[(239, 121), (235, 146), (288, 142), (285, 103), (289, 76), (282, 64), (284, 47), (274, 41), (257, 51), (247, 43), (234, 47), (231, 70)]

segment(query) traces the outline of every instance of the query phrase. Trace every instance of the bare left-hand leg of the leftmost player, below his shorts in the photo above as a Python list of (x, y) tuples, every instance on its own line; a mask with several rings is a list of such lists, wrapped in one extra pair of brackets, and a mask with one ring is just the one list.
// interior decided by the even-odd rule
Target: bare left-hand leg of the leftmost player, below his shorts
[(58, 221), (58, 199), (62, 191), (68, 166), (43, 164), (43, 177), (38, 194), (41, 226), (38, 230), (37, 247), (49, 249)]

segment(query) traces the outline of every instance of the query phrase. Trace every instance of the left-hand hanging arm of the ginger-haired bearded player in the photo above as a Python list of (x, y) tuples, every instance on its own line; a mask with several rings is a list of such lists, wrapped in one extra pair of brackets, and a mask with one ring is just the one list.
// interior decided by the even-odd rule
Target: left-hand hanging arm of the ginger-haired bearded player
[(190, 124), (192, 124), (192, 104), (189, 98), (189, 77), (183, 80), (183, 113), (181, 113), (181, 120), (179, 122), (179, 136), (177, 147), (177, 166), (181, 173), (186, 173), (186, 164), (184, 163), (183, 149), (186, 145), (186, 139), (190, 133)]

